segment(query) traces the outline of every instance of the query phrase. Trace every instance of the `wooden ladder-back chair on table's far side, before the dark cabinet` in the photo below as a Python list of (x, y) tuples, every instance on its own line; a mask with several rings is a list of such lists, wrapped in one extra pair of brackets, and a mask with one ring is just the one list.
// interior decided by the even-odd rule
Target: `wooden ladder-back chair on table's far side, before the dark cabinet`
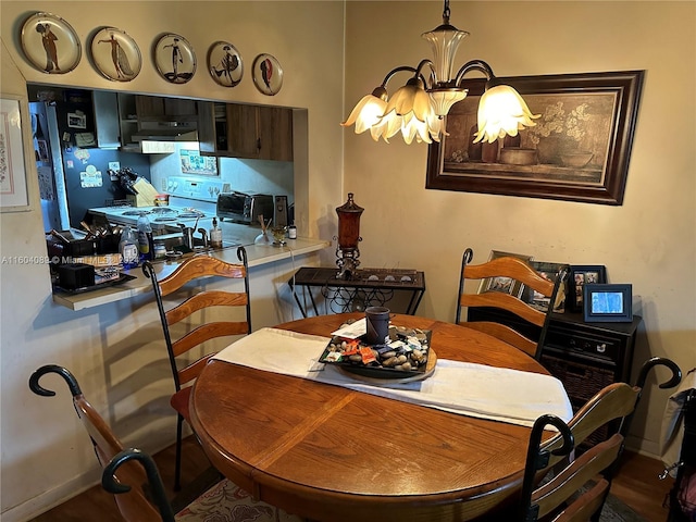
[[(569, 268), (562, 265), (559, 273), (556, 274), (556, 279), (549, 281), (524, 261), (513, 257), (497, 258), (482, 264), (470, 264), (473, 256), (471, 248), (464, 250), (462, 256), (455, 322), (492, 335), (539, 360), (554, 303)], [(532, 307), (521, 296), (512, 295), (511, 291), (487, 290), (481, 294), (465, 291), (467, 281), (483, 281), (488, 277), (505, 278), (512, 283), (510, 288), (522, 288), (519, 284), (524, 285), (525, 288), (547, 298), (548, 304), (544, 304), (542, 309)], [(519, 284), (513, 284), (515, 281)], [(520, 294), (522, 293), (520, 291)], [(464, 308), (467, 309), (467, 321), (462, 320), (462, 310)], [(474, 309), (484, 310), (485, 312), (494, 310), (494, 316), (499, 316), (501, 321), (477, 320)], [(490, 313), (486, 313), (486, 318), (489, 316)], [(512, 323), (521, 323), (523, 327), (510, 326), (508, 319), (512, 319)], [(536, 336), (534, 335), (535, 333), (537, 334)]]

